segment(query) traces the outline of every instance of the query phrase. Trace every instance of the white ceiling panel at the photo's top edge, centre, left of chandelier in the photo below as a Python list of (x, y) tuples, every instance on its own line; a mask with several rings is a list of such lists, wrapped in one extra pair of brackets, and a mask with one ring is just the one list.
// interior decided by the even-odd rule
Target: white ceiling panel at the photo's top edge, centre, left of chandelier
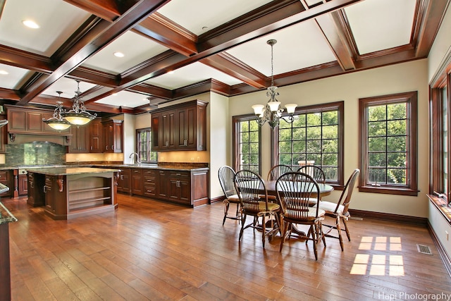
[(271, 0), (172, 0), (158, 12), (201, 35), (268, 2)]

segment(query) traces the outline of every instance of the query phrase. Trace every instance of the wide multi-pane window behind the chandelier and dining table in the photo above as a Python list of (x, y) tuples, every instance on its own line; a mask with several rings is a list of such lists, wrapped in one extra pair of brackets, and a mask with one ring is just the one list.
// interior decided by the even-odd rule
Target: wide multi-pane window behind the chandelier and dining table
[(273, 141), (276, 164), (320, 166), (326, 182), (343, 185), (343, 108), (344, 102), (297, 108), (295, 121), (280, 119)]

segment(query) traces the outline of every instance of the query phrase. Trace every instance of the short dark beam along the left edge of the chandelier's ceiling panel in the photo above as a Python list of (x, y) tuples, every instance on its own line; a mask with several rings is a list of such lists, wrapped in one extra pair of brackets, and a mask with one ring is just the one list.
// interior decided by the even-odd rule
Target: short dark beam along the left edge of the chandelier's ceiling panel
[(200, 60), (200, 62), (234, 78), (238, 78), (252, 87), (259, 89), (266, 87), (266, 76), (264, 74), (259, 73), (259, 71), (235, 59), (235, 57), (226, 52), (208, 56)]

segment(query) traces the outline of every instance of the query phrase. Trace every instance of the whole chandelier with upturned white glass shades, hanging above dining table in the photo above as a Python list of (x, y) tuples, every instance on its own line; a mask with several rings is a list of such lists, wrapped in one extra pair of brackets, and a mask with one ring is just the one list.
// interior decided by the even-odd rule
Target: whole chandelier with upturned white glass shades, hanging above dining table
[(272, 129), (277, 128), (280, 122), (280, 118), (288, 123), (294, 121), (293, 114), (295, 113), (297, 104), (286, 104), (285, 108), (289, 114), (288, 117), (282, 117), (284, 109), (280, 108), (280, 102), (276, 99), (279, 93), (276, 91), (277, 87), (274, 86), (274, 68), (273, 68), (273, 46), (277, 43), (276, 39), (269, 39), (267, 44), (271, 45), (271, 86), (268, 87), (266, 96), (269, 100), (266, 105), (264, 104), (254, 104), (252, 109), (254, 109), (255, 115), (257, 115), (257, 123), (262, 126), (266, 122), (271, 126)]

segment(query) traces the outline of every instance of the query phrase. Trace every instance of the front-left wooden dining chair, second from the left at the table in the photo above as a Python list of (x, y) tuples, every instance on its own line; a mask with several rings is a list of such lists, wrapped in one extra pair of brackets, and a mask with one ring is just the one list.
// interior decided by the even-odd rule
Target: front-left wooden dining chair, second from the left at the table
[[(242, 233), (247, 228), (254, 228), (261, 231), (261, 241), (263, 248), (265, 247), (266, 237), (271, 241), (273, 235), (278, 231), (279, 223), (279, 204), (268, 202), (268, 191), (264, 185), (263, 179), (253, 171), (237, 171), (235, 175), (235, 189), (241, 203), (241, 231), (240, 241)], [(247, 216), (252, 216), (253, 221), (245, 225)], [(261, 218), (261, 221), (259, 219)], [(268, 228), (266, 221), (275, 221)]]

